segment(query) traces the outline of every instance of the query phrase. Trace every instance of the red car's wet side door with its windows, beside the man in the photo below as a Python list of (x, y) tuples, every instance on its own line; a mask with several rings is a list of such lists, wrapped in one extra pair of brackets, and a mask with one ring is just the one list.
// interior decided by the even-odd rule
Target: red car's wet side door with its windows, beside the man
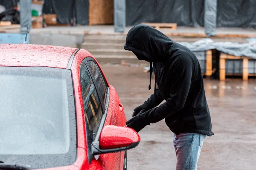
[[(120, 119), (123, 114), (123, 106), (119, 104), (116, 91), (108, 87), (97, 62), (93, 58), (87, 57), (81, 63), (80, 81), (87, 143), (89, 145), (100, 134), (103, 127), (101, 126), (102, 123), (104, 125), (124, 125), (123, 117)], [(88, 153), (89, 155), (90, 153)], [(92, 159), (98, 159), (102, 162), (105, 170), (120, 170), (123, 167), (124, 152), (103, 154), (99, 158), (94, 156)]]

